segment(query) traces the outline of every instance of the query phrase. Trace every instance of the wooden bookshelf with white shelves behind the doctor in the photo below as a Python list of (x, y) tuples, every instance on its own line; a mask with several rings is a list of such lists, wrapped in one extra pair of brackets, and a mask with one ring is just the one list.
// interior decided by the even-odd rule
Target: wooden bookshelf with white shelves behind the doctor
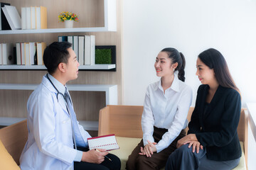
[[(69, 84), (114, 84), (117, 86), (117, 104), (122, 104), (122, 0), (6, 0), (21, 7), (46, 6), (48, 29), (0, 30), (1, 43), (46, 42), (49, 45), (63, 35), (95, 35), (96, 45), (116, 45), (117, 63), (105, 66), (81, 66), (78, 79)], [(80, 19), (74, 28), (64, 28), (58, 22), (62, 11), (73, 11)], [(118, 65), (118, 67), (116, 67)], [(32, 67), (32, 68), (31, 68)], [(97, 68), (96, 68), (97, 67)], [(116, 72), (101, 72), (116, 67)], [(94, 72), (97, 70), (97, 72)], [(0, 66), (0, 84), (40, 84), (46, 74), (44, 66)], [(26, 101), (33, 90), (0, 89), (0, 117), (26, 118)], [(78, 120), (96, 121), (100, 108), (106, 105), (105, 91), (70, 91)], [(15, 107), (13, 103), (16, 103)]]

